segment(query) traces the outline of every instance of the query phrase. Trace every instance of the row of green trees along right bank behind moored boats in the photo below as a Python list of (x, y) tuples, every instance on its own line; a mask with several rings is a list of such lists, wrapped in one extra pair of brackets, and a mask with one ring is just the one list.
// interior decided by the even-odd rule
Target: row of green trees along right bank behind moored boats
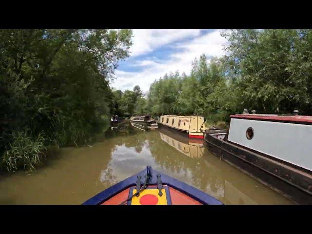
[(190, 76), (168, 76), (150, 87), (153, 115), (201, 114), (219, 120), (241, 113), (311, 115), (312, 31), (232, 30), (226, 56), (192, 62)]

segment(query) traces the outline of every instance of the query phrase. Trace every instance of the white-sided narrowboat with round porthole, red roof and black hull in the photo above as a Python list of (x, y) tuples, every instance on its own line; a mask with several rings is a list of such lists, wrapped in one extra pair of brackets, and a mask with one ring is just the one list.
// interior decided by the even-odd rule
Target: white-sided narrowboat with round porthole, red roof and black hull
[(312, 204), (312, 117), (232, 115), (208, 130), (210, 151), (298, 204)]

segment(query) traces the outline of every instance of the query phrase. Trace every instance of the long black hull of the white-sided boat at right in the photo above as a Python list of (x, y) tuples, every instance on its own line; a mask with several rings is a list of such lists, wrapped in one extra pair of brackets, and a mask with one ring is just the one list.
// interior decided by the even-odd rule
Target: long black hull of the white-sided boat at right
[(270, 156), (242, 148), (227, 140), (205, 134), (209, 150), (274, 191), (297, 204), (312, 204), (312, 175)]

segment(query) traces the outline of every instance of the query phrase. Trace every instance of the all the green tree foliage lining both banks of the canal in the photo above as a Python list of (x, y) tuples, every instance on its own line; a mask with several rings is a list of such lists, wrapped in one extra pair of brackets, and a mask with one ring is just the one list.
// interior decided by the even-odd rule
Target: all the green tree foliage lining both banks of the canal
[[(195, 58), (190, 75), (165, 74), (145, 98), (138, 85), (124, 92), (109, 87), (118, 61), (129, 56), (131, 30), (0, 30), (2, 165), (11, 158), (33, 168), (40, 152), (31, 158), (29, 145), (83, 143), (109, 115), (200, 114), (217, 121), (244, 108), (312, 115), (312, 30), (222, 36), (225, 56)], [(16, 170), (20, 162), (5, 165)]]

